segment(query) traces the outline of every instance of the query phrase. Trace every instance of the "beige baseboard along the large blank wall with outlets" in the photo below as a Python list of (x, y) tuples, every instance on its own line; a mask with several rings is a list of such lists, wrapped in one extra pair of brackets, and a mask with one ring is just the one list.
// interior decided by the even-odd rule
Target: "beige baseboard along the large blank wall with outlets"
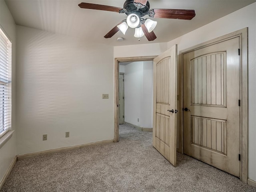
[(45, 154), (52, 154), (52, 153), (56, 153), (56, 152), (60, 152), (60, 151), (74, 150), (74, 149), (84, 148), (86, 146), (102, 145), (102, 144), (108, 144), (108, 143), (112, 143), (112, 142), (114, 142), (114, 140), (104, 140), (104, 141), (76, 145), (76, 146), (71, 146), (71, 147), (63, 147), (63, 148), (29, 153), (29, 154), (24, 154), (24, 155), (17, 155), (17, 158), (18, 158), (18, 160), (21, 160), (21, 159), (26, 159), (26, 158), (30, 158), (30, 157), (45, 155)]

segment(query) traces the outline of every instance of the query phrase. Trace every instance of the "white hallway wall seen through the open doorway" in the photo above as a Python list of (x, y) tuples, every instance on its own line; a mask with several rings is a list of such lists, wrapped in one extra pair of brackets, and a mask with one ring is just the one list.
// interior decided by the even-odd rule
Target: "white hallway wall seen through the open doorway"
[(132, 62), (124, 68), (125, 122), (152, 128), (152, 61)]

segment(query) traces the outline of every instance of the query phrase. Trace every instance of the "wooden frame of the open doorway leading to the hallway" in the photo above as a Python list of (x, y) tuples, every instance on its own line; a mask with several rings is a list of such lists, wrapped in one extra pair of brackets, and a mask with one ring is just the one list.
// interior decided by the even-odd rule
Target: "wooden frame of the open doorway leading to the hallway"
[(115, 58), (114, 71), (114, 142), (119, 141), (119, 62), (153, 61), (157, 56)]

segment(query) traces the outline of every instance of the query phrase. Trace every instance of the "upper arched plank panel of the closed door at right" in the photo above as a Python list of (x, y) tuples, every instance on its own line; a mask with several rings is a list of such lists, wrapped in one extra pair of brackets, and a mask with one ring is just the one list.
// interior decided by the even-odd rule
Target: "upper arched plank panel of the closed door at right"
[(226, 106), (225, 61), (226, 52), (206, 54), (191, 60), (192, 104)]

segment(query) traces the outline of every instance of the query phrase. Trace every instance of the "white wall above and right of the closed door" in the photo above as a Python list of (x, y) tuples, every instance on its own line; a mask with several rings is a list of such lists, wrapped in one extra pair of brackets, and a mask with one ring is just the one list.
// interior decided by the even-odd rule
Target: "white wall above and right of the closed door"
[[(248, 27), (248, 177), (256, 181), (256, 3), (168, 42), (180, 50)], [(180, 64), (180, 62), (178, 62)]]

